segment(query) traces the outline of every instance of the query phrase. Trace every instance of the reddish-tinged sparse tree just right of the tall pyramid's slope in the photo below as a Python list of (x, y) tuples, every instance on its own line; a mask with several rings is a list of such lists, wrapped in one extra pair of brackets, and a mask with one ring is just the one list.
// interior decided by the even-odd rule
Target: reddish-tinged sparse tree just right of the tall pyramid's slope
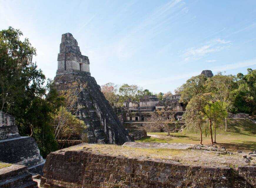
[(101, 91), (111, 106), (114, 106), (118, 102), (117, 89), (118, 86), (111, 82), (101, 86)]

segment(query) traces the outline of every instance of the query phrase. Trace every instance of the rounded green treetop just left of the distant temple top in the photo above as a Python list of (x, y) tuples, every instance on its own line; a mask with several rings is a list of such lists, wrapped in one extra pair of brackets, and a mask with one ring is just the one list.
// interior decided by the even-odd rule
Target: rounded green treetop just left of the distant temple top
[(180, 88), (179, 93), (181, 94), (180, 101), (187, 104), (193, 96), (203, 94), (206, 92), (205, 82), (207, 77), (203, 74), (193, 76), (186, 81)]

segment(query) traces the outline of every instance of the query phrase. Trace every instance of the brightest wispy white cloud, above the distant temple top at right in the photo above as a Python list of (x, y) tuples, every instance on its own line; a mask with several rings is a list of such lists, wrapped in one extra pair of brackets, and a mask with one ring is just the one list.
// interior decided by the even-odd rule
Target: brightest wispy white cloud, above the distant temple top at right
[(198, 60), (210, 53), (222, 51), (223, 49), (229, 48), (230, 46), (231, 41), (225, 41), (223, 39), (217, 38), (205, 43), (203, 46), (187, 49), (184, 52), (183, 57), (185, 61)]

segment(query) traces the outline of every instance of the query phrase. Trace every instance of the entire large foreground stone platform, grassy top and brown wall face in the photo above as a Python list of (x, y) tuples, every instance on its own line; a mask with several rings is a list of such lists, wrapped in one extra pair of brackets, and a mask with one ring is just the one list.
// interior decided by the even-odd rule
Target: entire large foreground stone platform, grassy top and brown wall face
[(254, 164), (242, 154), (81, 144), (47, 156), (41, 187), (252, 188)]

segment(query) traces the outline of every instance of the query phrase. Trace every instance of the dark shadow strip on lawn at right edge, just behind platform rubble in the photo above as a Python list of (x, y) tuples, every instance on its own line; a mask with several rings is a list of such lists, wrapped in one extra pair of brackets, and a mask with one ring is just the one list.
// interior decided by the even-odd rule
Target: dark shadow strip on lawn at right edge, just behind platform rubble
[(227, 150), (230, 151), (255, 151), (256, 150), (256, 142), (245, 141), (242, 143), (217, 143), (219, 146), (224, 146)]

